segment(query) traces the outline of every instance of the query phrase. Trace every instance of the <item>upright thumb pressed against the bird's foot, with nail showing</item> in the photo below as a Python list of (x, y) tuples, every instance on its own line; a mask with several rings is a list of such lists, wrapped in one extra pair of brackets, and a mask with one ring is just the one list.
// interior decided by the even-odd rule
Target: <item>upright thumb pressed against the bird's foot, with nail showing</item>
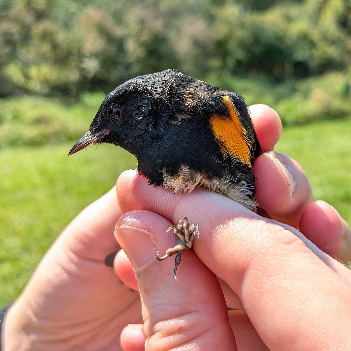
[[(145, 350), (236, 350), (226, 303), (216, 276), (192, 250), (182, 254), (177, 280), (174, 259), (156, 259), (175, 245), (168, 220), (150, 211), (122, 216), (115, 235), (131, 260), (140, 291)], [(174, 256), (173, 256), (174, 257)]]

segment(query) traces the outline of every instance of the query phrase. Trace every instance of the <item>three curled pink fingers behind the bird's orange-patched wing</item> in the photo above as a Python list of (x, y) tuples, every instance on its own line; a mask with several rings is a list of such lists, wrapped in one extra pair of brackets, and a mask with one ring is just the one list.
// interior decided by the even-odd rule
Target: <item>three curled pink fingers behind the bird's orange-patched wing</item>
[(344, 263), (351, 259), (351, 233), (345, 220), (325, 201), (314, 201), (302, 167), (273, 150), (281, 135), (280, 118), (265, 105), (250, 107), (264, 154), (253, 164), (256, 198), (272, 219), (292, 225), (319, 249)]

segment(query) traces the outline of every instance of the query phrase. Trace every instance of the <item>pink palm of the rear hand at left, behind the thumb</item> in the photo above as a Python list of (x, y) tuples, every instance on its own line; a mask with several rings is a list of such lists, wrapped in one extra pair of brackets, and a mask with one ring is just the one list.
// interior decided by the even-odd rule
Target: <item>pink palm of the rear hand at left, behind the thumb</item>
[(7, 312), (3, 350), (121, 350), (121, 330), (142, 321), (138, 292), (104, 263), (121, 215), (113, 188), (67, 226)]

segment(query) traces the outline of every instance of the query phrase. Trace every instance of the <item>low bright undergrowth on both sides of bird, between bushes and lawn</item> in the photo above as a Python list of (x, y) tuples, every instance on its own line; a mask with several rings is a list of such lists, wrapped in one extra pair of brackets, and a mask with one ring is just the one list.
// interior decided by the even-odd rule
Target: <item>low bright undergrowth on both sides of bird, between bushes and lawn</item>
[[(273, 106), (283, 125), (351, 115), (351, 79), (339, 72), (279, 84), (263, 76), (252, 80), (229, 74), (208, 75), (206, 80), (238, 92), (248, 104)], [(0, 99), (0, 149), (75, 142), (87, 131), (104, 98), (104, 93), (85, 93), (71, 104), (40, 96)]]

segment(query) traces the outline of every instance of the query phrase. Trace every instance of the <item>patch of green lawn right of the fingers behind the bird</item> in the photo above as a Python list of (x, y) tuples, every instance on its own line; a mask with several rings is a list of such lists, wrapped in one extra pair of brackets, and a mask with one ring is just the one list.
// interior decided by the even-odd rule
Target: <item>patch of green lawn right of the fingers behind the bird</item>
[(276, 150), (296, 159), (316, 199), (333, 205), (351, 224), (351, 118), (283, 128)]

